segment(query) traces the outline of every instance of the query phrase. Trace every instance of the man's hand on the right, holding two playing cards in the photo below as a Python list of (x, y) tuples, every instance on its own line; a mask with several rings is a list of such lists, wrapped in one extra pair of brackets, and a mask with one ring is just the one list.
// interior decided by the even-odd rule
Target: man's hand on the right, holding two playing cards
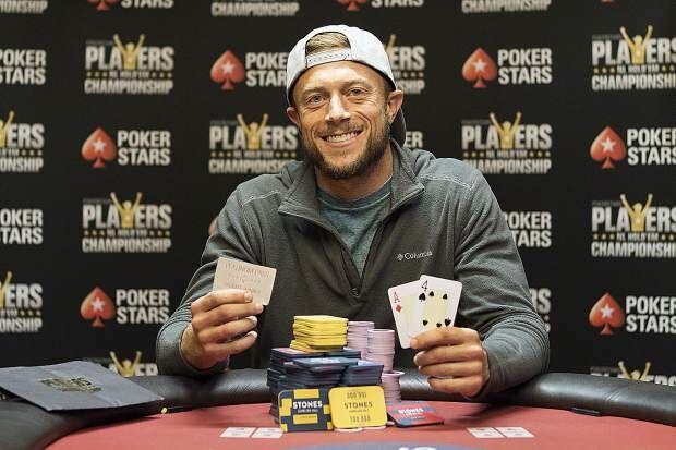
[(488, 356), (471, 328), (443, 327), (421, 332), (411, 348), (413, 362), (436, 391), (476, 396), (488, 381)]

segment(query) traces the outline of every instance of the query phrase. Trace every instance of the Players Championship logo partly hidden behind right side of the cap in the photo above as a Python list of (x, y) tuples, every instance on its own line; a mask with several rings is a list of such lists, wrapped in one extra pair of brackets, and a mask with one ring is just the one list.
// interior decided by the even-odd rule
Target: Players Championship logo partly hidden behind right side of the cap
[(425, 48), (396, 45), (397, 35), (389, 35), (385, 52), (389, 59), (397, 87), (406, 94), (421, 94), (425, 88)]

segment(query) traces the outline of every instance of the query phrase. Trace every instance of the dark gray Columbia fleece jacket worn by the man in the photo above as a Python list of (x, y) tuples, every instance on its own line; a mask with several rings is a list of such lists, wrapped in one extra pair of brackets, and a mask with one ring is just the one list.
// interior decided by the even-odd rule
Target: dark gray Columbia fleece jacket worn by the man
[[(185, 296), (157, 337), (164, 374), (210, 375), (179, 352), (190, 304), (212, 289), (219, 256), (275, 267), (258, 340), (232, 356), (231, 367), (266, 367), (270, 349), (288, 346), (293, 316), (329, 314), (396, 329), (387, 289), (421, 275), (462, 282), (456, 326), (479, 331), (496, 392), (544, 372), (548, 337), (530, 301), (521, 259), (482, 174), (456, 159), (436, 159), (391, 142), (391, 207), (375, 233), (360, 277), (334, 226), (319, 212), (312, 165), (290, 162), (279, 174), (240, 184), (218, 215)], [(412, 367), (413, 352), (397, 345), (395, 366)]]

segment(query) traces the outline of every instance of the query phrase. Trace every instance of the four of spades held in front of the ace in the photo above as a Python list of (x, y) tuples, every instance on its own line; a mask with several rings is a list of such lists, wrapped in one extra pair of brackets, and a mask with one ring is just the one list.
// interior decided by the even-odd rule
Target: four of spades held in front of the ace
[(456, 321), (461, 291), (462, 283), (458, 281), (428, 275), (420, 277), (409, 332), (415, 336), (439, 327), (451, 327)]

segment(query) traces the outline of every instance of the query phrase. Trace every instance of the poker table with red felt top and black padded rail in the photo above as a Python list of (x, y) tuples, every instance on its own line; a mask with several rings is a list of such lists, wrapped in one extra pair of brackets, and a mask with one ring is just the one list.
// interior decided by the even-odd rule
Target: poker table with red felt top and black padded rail
[[(208, 379), (132, 377), (157, 403), (48, 413), (0, 401), (0, 449), (674, 449), (676, 388), (627, 379), (551, 373), (472, 402), (401, 378), (405, 400), (425, 400), (443, 425), (359, 433), (287, 433), (279, 439), (224, 438), (234, 426), (274, 427), (265, 370), (229, 370)], [(167, 408), (169, 413), (160, 414)], [(533, 437), (478, 438), (468, 428), (522, 427)]]

